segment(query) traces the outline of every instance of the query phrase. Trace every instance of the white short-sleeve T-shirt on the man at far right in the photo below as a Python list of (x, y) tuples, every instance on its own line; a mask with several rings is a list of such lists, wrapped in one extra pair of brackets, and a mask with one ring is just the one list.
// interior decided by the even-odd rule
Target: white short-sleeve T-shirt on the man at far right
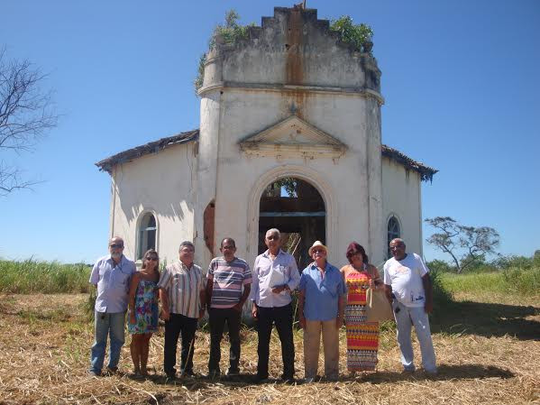
[(406, 307), (424, 307), (426, 292), (422, 277), (429, 270), (416, 253), (407, 253), (403, 260), (393, 257), (384, 263), (384, 283), (392, 287), (396, 299)]

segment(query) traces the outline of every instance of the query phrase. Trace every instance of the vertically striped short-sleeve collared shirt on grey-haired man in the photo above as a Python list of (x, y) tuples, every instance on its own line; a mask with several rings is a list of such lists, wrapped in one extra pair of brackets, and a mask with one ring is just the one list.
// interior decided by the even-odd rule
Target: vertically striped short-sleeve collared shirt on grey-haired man
[(167, 292), (169, 311), (188, 318), (198, 318), (201, 308), (199, 293), (205, 290), (205, 278), (197, 264), (191, 267), (175, 262), (161, 272), (158, 287)]

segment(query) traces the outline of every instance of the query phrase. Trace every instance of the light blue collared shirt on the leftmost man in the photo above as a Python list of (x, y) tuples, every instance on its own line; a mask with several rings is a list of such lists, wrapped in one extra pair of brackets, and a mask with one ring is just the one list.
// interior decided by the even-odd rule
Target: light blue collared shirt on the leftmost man
[(125, 312), (134, 272), (137, 272), (135, 263), (124, 254), (118, 264), (110, 254), (97, 260), (89, 280), (97, 287), (97, 312)]

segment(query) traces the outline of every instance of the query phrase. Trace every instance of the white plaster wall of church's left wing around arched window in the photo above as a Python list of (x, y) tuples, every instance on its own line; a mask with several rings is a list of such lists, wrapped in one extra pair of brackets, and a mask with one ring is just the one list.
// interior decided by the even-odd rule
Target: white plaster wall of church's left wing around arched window
[(124, 238), (127, 257), (135, 258), (145, 212), (156, 217), (161, 262), (178, 260), (178, 245), (193, 240), (196, 148), (197, 143), (176, 145), (115, 166), (110, 229)]

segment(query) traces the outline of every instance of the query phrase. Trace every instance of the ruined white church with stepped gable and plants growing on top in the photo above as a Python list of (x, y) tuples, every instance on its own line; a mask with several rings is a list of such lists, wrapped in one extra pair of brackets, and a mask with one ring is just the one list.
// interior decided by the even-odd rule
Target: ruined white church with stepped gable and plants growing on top
[(276, 7), (245, 40), (217, 40), (198, 92), (199, 129), (96, 163), (111, 175), (110, 235), (124, 238), (124, 253), (140, 261), (154, 247), (172, 262), (189, 240), (205, 268), (231, 236), (252, 264), (265, 231), (278, 227), (296, 235), (300, 266), (316, 239), (336, 266), (353, 240), (374, 264), (395, 236), (421, 254), (421, 183), (436, 170), (381, 143), (371, 50), (296, 7)]

